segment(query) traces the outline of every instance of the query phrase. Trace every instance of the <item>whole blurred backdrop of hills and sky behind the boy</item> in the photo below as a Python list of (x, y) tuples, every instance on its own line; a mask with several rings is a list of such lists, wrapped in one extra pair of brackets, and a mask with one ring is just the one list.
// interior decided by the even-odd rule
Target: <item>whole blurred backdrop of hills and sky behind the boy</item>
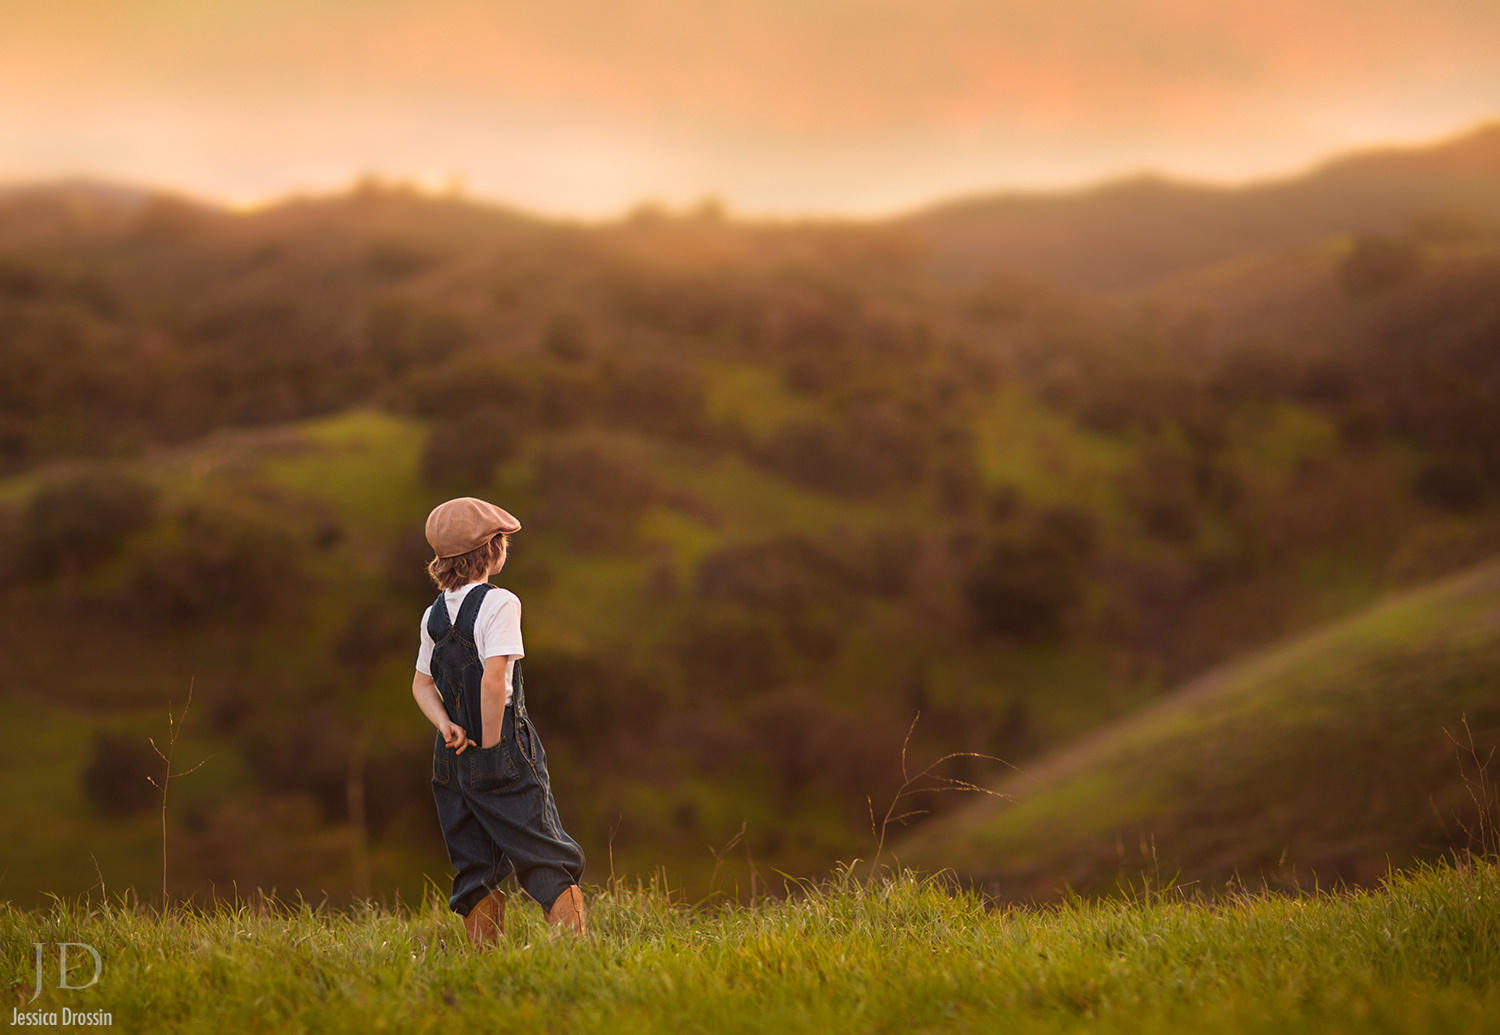
[(588, 880), (1492, 836), (1500, 6), (3, 10), (0, 897), (446, 886), (452, 495)]

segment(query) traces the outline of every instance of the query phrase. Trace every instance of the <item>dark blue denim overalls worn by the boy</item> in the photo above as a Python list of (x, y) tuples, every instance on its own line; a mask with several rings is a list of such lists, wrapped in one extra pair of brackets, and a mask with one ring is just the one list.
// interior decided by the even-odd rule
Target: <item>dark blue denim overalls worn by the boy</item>
[(552, 801), (548, 754), (526, 716), (520, 658), (514, 662), (514, 693), (501, 718), (500, 742), (478, 747), (484, 663), (474, 646), (474, 620), (490, 590), (483, 582), (470, 590), (453, 621), (440, 592), (428, 618), (432, 680), (448, 718), (474, 741), (458, 754), (438, 734), (432, 747), (432, 796), (448, 860), (458, 870), (448, 908), (460, 915), (468, 915), (512, 872), (543, 909), (550, 909), (562, 890), (584, 876), (584, 849), (562, 830)]

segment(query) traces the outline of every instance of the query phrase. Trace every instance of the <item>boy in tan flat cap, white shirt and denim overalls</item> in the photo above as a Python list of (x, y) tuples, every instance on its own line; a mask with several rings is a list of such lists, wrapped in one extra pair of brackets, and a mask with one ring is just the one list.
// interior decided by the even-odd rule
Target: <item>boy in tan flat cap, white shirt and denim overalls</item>
[(438, 729), (432, 796), (456, 867), (448, 908), (470, 944), (506, 932), (512, 873), (549, 924), (585, 933), (584, 850), (562, 830), (548, 756), (520, 680), (520, 600), (489, 584), (506, 566), (520, 522), (492, 502), (462, 496), (428, 516), (428, 574), (442, 592), (422, 614), (411, 694)]

